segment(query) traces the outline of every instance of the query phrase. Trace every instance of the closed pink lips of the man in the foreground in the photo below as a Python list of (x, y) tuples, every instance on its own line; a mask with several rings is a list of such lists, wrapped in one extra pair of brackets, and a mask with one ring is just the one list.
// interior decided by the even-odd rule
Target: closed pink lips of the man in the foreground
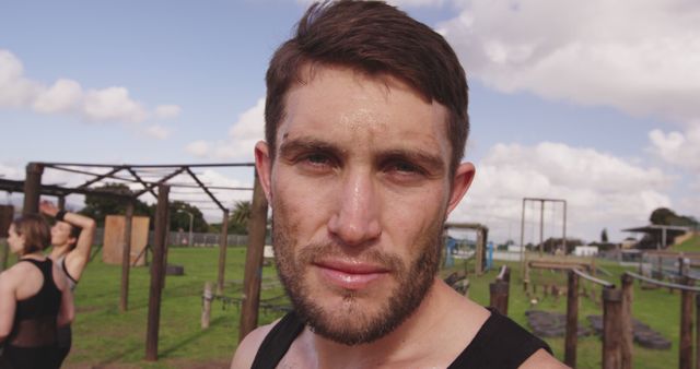
[(360, 262), (323, 261), (315, 266), (331, 285), (353, 290), (366, 288), (389, 273), (384, 266)]

